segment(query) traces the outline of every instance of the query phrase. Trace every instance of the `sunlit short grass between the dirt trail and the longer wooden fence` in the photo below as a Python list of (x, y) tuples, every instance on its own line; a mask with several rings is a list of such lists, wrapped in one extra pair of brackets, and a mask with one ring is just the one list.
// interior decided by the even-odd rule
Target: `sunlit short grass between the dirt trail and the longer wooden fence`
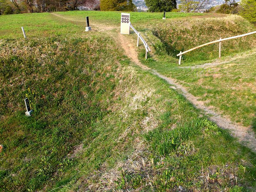
[(227, 62), (217, 66), (195, 69), (180, 68), (163, 56), (158, 61), (149, 59), (145, 64), (177, 79), (189, 93), (229, 116), (233, 122), (255, 127), (255, 54), (247, 52), (247, 55), (226, 59)]

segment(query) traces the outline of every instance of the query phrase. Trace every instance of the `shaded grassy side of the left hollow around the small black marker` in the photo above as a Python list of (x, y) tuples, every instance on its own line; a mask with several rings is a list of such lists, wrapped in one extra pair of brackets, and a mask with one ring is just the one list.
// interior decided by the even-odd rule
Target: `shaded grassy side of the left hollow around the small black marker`
[[(95, 36), (1, 41), (0, 188), (42, 187), (71, 163), (66, 155), (74, 145), (93, 139), (90, 124), (107, 112), (93, 80), (118, 57), (112, 46), (108, 38)], [(111, 82), (107, 89), (113, 89)], [(35, 111), (29, 118), (26, 96)]]

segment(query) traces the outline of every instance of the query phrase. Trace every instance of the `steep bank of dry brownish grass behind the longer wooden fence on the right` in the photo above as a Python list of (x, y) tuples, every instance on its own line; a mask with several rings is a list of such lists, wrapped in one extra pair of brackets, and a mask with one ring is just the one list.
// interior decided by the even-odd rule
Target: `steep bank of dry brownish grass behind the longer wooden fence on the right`
[[(186, 51), (201, 44), (241, 35), (255, 30), (247, 20), (237, 15), (226, 17), (187, 18), (170, 20), (153, 27), (153, 34), (162, 44), (158, 49), (166, 51), (176, 58), (177, 53)], [(221, 55), (241, 52), (255, 47), (255, 35), (224, 41)], [(218, 44), (211, 44), (182, 55), (186, 63), (218, 58)], [(183, 64), (184, 64), (183, 61)], [(191, 65), (191, 64), (190, 64)]]

